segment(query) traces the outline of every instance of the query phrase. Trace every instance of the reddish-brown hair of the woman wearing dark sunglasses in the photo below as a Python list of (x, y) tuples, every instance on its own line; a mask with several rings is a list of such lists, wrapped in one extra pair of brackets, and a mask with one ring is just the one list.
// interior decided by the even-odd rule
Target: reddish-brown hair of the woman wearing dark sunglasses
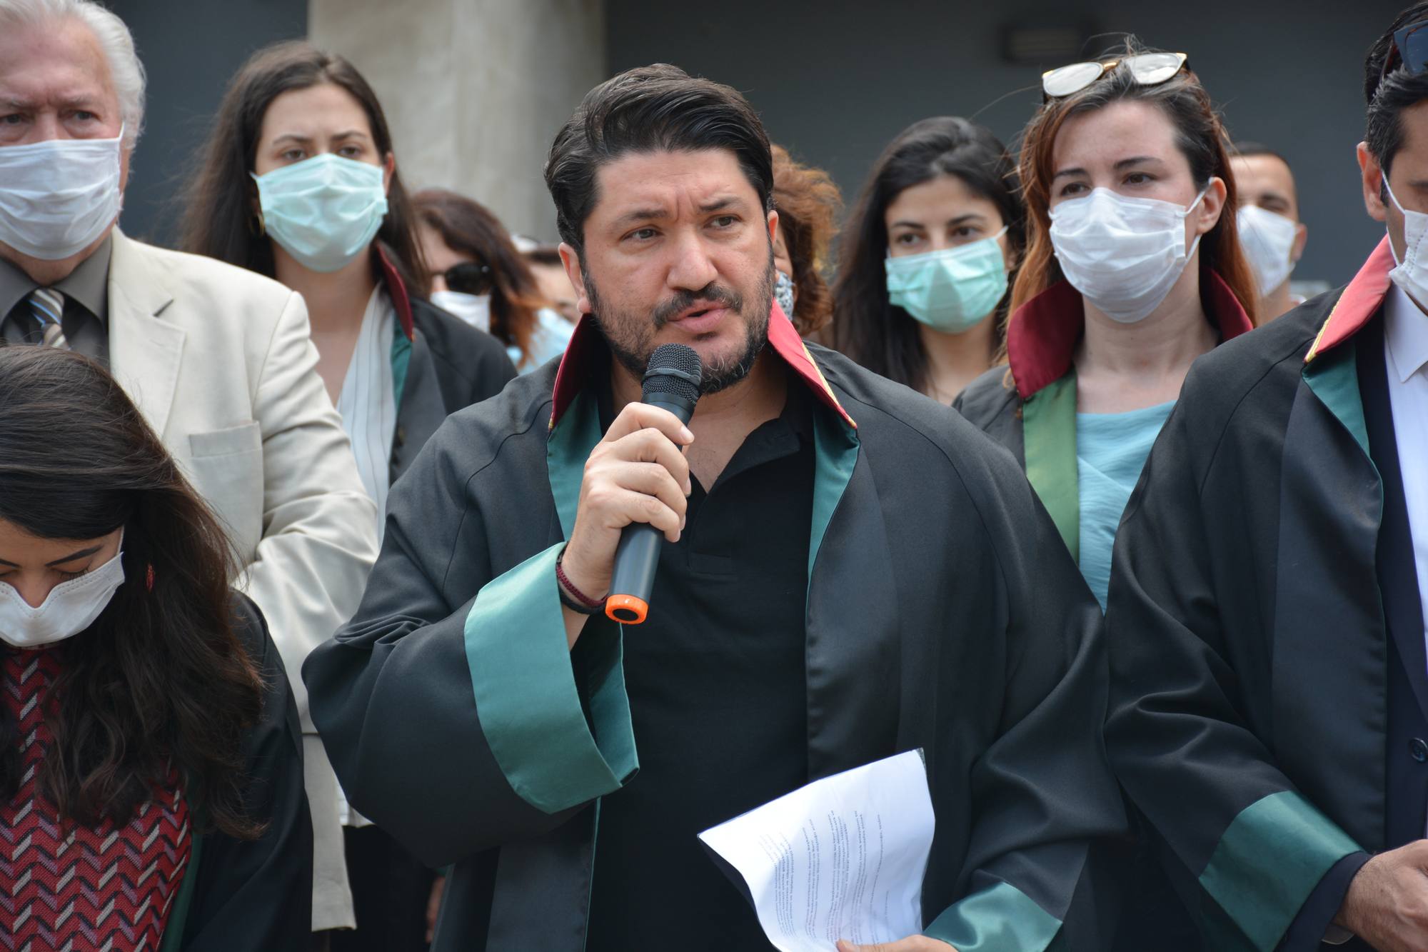
[(491, 269), (491, 334), (520, 347), (521, 363), (528, 362), (543, 302), (536, 276), (506, 226), (484, 204), (446, 189), (423, 189), (411, 206), (447, 247)]

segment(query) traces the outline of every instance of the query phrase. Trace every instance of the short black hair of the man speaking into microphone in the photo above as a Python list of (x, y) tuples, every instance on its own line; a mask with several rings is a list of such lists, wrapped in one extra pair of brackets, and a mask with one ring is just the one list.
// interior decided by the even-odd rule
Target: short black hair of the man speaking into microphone
[(773, 209), (774, 167), (758, 113), (737, 90), (655, 63), (627, 70), (585, 94), (551, 143), (545, 187), (560, 237), (584, 249), (595, 207), (595, 173), (633, 152), (728, 149), (764, 210)]

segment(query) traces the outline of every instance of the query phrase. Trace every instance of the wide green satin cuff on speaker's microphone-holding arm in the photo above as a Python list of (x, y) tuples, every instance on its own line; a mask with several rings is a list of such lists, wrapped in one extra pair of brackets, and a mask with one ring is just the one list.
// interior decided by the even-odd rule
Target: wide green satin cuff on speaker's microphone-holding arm
[(575, 650), (567, 646), (555, 589), (563, 545), (488, 582), (466, 618), (481, 733), (511, 789), (547, 813), (618, 790), (640, 769), (618, 626), (593, 616)]

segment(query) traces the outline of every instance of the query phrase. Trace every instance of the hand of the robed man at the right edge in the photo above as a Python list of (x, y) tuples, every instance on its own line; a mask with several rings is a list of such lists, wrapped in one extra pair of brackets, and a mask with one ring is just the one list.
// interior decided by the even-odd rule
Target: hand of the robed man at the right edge
[(1428, 949), (1428, 841), (1374, 856), (1354, 876), (1334, 916), (1375, 949)]

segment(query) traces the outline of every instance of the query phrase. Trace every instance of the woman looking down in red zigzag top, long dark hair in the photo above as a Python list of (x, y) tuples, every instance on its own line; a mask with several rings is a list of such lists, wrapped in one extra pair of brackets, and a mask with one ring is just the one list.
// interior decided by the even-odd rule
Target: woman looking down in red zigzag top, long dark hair
[(97, 363), (0, 347), (0, 935), (301, 949), (297, 708), (234, 553)]

